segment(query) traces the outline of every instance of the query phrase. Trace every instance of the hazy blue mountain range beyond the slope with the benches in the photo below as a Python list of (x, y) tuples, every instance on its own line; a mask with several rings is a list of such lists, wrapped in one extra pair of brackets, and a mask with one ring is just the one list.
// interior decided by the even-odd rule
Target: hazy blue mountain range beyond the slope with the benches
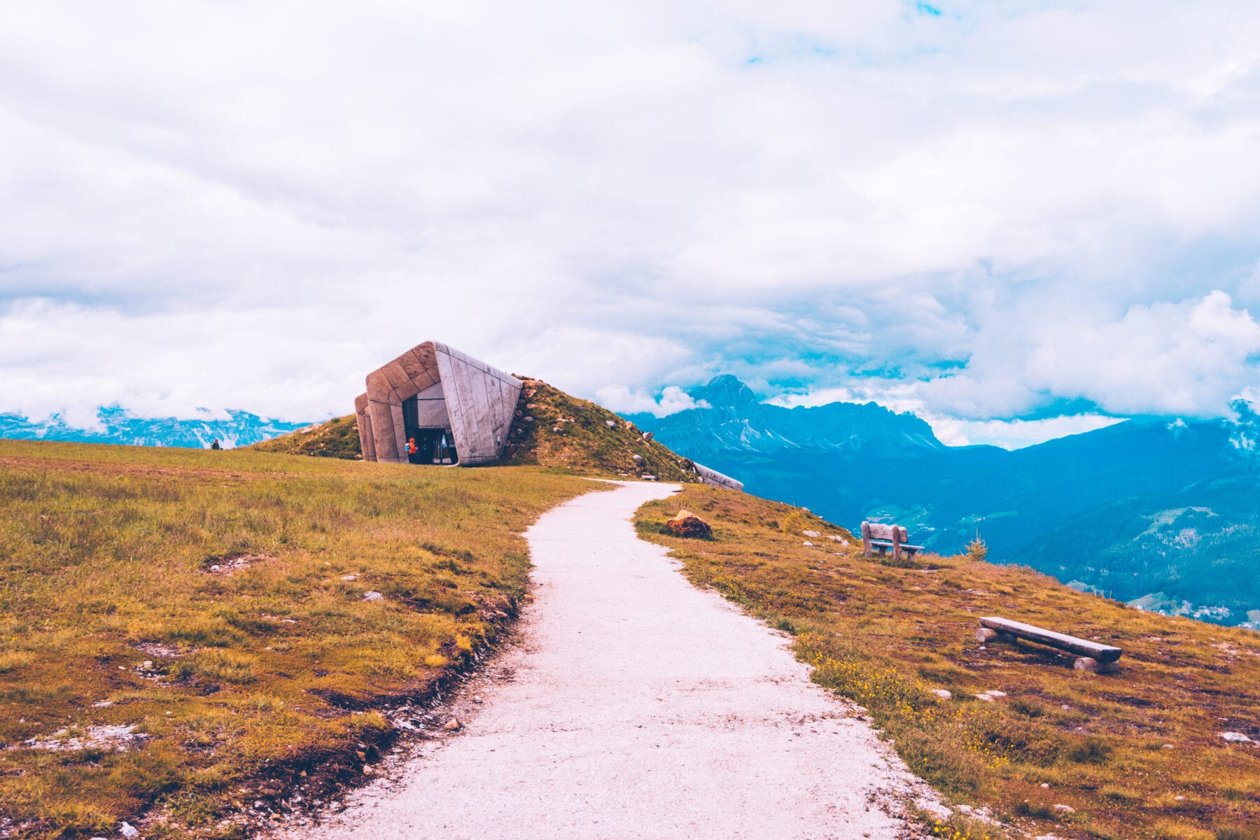
[(897, 521), (941, 553), (979, 533), (994, 562), (1144, 608), (1260, 622), (1260, 424), (1242, 404), (1236, 422), (1133, 419), (1011, 452), (946, 447), (874, 403), (765, 404), (728, 375), (689, 393), (707, 407), (633, 419), (750, 492), (850, 528)]

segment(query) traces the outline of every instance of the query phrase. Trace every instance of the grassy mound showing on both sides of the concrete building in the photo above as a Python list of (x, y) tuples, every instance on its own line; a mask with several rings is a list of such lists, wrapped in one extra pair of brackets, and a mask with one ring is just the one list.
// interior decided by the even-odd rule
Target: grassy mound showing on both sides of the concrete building
[[(689, 461), (595, 403), (570, 397), (539, 379), (524, 379), (503, 463), (543, 466), (582, 475), (696, 481)], [(262, 452), (359, 458), (354, 414), (256, 443)], [(639, 461), (635, 456), (639, 456)]]

